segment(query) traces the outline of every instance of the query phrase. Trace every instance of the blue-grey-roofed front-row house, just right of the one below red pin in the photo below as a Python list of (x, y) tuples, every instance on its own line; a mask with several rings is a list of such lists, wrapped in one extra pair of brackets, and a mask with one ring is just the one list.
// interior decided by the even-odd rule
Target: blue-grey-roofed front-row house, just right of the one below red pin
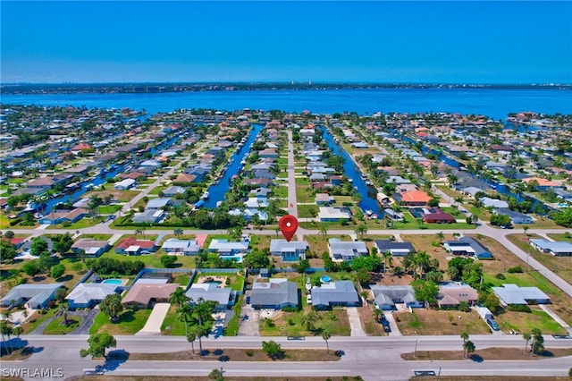
[(335, 306), (357, 307), (361, 300), (351, 281), (334, 281), (312, 287), (312, 306), (315, 309), (331, 309)]

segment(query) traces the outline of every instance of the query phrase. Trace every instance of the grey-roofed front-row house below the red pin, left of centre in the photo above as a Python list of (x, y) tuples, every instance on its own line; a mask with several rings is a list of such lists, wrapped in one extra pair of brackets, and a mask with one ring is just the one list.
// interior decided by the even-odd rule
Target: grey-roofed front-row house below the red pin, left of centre
[(285, 278), (256, 282), (252, 284), (249, 302), (253, 309), (296, 308), (299, 303), (298, 287)]

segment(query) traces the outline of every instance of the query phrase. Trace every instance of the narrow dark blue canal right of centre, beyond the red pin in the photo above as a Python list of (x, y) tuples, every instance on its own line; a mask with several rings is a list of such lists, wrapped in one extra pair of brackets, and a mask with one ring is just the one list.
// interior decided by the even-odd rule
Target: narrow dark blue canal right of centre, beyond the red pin
[(328, 146), (332, 148), (333, 153), (344, 158), (343, 172), (346, 176), (353, 180), (352, 184), (357, 188), (357, 192), (361, 194), (361, 201), (359, 202), (359, 207), (365, 212), (366, 210), (371, 210), (372, 212), (378, 214), (379, 218), (383, 217), (383, 212), (381, 211), (379, 205), (377, 204), (377, 191), (374, 187), (368, 187), (366, 182), (361, 179), (361, 172), (357, 168), (356, 163), (349, 156), (349, 153), (345, 149), (338, 146), (333, 140), (332, 133), (327, 129), (323, 128), (324, 139), (328, 143)]

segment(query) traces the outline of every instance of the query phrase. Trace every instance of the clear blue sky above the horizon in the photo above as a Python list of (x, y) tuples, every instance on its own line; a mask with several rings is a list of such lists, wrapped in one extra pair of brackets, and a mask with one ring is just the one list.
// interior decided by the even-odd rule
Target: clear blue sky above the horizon
[(572, 83), (569, 1), (0, 6), (3, 83)]

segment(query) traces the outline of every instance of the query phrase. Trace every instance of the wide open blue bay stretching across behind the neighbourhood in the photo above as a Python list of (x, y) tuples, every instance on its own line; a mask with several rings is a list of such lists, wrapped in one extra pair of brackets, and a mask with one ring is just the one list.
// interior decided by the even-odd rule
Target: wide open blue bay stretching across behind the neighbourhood
[(572, 90), (563, 89), (311, 89), (203, 91), (157, 94), (3, 94), (17, 105), (88, 106), (146, 109), (150, 114), (177, 108), (284, 110), (331, 114), (443, 112), (484, 114), (495, 120), (509, 113), (534, 111), (572, 114)]

